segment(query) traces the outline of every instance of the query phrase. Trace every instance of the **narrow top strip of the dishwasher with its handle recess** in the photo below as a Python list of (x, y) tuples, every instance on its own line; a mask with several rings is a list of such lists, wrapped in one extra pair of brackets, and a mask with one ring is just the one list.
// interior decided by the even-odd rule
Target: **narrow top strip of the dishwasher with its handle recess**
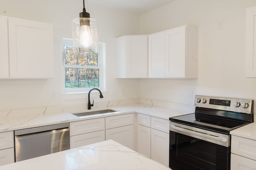
[(51, 131), (51, 130), (63, 129), (63, 128), (69, 128), (69, 123), (61, 123), (56, 125), (48, 125), (48, 126), (42, 126), (42, 127), (33, 127), (28, 129), (16, 130), (14, 131), (14, 136), (27, 135), (30, 133), (38, 133), (38, 132)]

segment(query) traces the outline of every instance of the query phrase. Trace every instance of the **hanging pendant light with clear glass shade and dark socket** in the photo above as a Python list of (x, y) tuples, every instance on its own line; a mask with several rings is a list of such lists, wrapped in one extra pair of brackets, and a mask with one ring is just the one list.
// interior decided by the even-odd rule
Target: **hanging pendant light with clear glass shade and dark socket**
[(72, 35), (75, 53), (78, 52), (77, 47), (87, 48), (98, 53), (97, 21), (90, 18), (85, 7), (83, 12), (80, 12), (79, 18), (72, 20)]

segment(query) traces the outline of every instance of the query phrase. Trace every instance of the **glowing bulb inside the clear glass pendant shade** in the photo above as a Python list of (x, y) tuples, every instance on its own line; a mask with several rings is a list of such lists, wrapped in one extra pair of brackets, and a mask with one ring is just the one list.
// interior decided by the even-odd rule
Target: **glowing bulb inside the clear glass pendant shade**
[(88, 25), (81, 26), (80, 43), (84, 47), (90, 47), (90, 45), (92, 45), (92, 34), (90, 31), (90, 26)]

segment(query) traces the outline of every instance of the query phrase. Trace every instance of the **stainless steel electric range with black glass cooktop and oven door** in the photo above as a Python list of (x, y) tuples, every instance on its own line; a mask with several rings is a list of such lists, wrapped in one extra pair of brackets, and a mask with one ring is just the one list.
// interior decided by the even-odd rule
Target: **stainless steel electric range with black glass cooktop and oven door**
[(170, 117), (172, 170), (230, 170), (230, 131), (253, 122), (253, 100), (195, 96), (195, 113)]

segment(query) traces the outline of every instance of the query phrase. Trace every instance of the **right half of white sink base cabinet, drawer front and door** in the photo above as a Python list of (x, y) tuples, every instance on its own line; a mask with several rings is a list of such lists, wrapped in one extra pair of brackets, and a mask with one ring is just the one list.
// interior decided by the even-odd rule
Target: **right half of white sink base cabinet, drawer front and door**
[(134, 149), (134, 113), (106, 117), (106, 140)]

